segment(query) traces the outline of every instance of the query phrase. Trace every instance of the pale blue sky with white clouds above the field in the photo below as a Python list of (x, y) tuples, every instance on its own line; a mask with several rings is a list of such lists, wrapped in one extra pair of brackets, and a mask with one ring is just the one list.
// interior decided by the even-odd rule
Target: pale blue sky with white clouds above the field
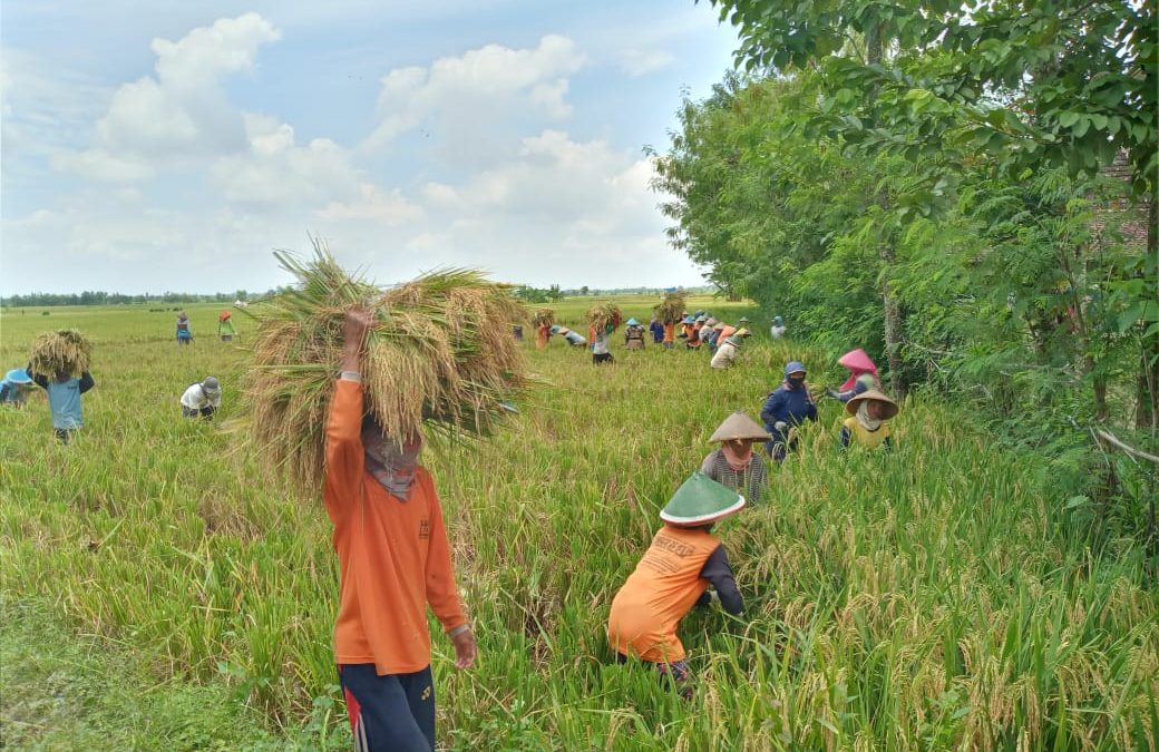
[(735, 48), (692, 0), (5, 2), (0, 294), (264, 291), (312, 236), (382, 284), (702, 284), (643, 147)]

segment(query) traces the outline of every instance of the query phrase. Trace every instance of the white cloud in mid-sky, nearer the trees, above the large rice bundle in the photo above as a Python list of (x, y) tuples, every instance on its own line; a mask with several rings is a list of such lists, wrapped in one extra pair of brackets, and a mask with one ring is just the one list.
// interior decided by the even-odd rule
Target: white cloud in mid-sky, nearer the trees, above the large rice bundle
[(571, 112), (564, 101), (567, 76), (584, 63), (571, 39), (548, 35), (533, 50), (489, 44), (461, 57), (439, 58), (429, 67), (396, 68), (382, 76), (380, 123), (364, 146), (387, 148), (428, 121), (440, 132), (464, 134), (478, 129), (488, 112), (531, 109), (567, 117)]

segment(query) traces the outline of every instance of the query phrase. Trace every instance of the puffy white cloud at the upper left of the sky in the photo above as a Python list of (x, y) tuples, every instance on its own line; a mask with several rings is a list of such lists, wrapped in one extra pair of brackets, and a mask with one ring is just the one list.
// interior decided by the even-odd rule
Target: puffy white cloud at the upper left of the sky
[(61, 154), (54, 165), (94, 180), (141, 180), (160, 167), (245, 151), (243, 117), (223, 81), (252, 70), (257, 49), (279, 37), (269, 21), (247, 13), (177, 42), (153, 39), (154, 75), (118, 88), (90, 148)]

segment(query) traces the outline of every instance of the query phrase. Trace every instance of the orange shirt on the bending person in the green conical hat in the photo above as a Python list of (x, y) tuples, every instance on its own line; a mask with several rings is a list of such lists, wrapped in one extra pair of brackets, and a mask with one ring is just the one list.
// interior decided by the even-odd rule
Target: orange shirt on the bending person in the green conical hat
[(683, 660), (676, 627), (708, 589), (700, 571), (721, 542), (702, 530), (665, 525), (612, 600), (607, 640), (653, 663)]

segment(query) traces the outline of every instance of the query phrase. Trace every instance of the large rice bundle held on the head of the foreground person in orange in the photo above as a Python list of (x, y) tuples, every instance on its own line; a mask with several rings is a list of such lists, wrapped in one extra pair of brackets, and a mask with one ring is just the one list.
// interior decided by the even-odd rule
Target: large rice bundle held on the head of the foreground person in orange
[(365, 409), (396, 439), (421, 428), (486, 436), (510, 411), (526, 377), (511, 338), (524, 317), (508, 285), (468, 270), (424, 275), (382, 291), (347, 273), (321, 241), (302, 263), (275, 254), (298, 284), (249, 312), (257, 322), (246, 387), (262, 457), (300, 489), (322, 479), (326, 418), (342, 356), (342, 322), (369, 305), (376, 322), (362, 355)]

